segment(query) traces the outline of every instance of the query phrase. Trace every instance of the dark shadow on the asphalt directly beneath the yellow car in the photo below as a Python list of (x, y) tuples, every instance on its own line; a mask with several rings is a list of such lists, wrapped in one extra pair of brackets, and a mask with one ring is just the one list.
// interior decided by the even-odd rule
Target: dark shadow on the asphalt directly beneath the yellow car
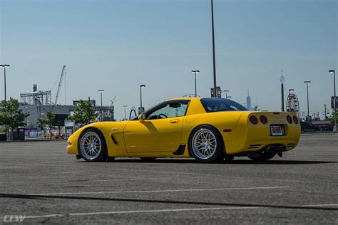
[[(81, 163), (86, 163), (81, 160)], [(204, 164), (196, 161), (195, 159), (154, 159), (153, 161), (144, 161), (143, 159), (115, 159), (109, 161), (111, 163), (177, 163), (177, 164)], [(268, 160), (265, 162), (252, 161), (250, 159), (234, 159), (232, 161), (223, 160), (222, 162), (215, 162), (210, 164), (326, 164), (326, 163), (338, 163), (337, 161), (317, 161), (317, 160)]]

